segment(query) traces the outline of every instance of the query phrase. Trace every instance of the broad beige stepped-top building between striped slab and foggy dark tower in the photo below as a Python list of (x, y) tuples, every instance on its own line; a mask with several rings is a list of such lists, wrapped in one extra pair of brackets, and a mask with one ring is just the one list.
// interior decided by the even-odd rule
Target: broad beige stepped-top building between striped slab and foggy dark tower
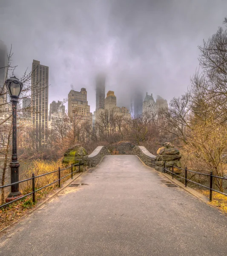
[(71, 90), (68, 96), (68, 113), (71, 119), (79, 119), (82, 122), (89, 120), (92, 124), (92, 113), (87, 102), (87, 91), (81, 88), (80, 92)]

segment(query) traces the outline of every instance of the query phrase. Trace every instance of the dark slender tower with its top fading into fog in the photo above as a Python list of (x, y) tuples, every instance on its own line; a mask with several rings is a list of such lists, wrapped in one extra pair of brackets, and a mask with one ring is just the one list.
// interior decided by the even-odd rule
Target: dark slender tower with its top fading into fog
[(96, 77), (96, 108), (95, 111), (98, 109), (104, 109), (105, 107), (105, 82), (106, 77), (103, 74), (99, 74)]

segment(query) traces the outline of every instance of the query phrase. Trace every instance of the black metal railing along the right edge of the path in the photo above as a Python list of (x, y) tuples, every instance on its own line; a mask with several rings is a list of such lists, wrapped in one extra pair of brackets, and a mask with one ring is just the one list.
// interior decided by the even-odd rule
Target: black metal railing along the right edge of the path
[[(167, 165), (168, 165), (168, 166), (167, 166)], [(168, 168), (168, 167), (172, 167), (172, 168), (171, 168), (171, 169), (172, 169), (172, 172), (171, 172), (170, 170), (166, 169), (166, 167), (167, 167), (167, 168)], [(178, 175), (178, 174), (174, 173), (174, 172), (173, 172), (173, 171), (174, 171), (173, 168), (177, 168), (177, 169), (179, 169), (179, 170), (183, 170), (183, 171), (184, 171), (184, 177), (181, 176), (181, 175)], [(170, 172), (170, 173), (172, 174), (172, 179), (174, 178), (174, 175), (175, 175), (175, 176), (180, 177), (180, 178), (182, 178), (183, 180), (185, 180), (185, 182), (184, 182), (185, 187), (187, 187), (187, 182), (190, 181), (190, 182), (195, 183), (195, 184), (197, 184), (197, 185), (199, 185), (199, 186), (202, 186), (202, 187), (204, 187), (204, 188), (206, 188), (206, 189), (209, 189), (209, 190), (210, 190), (210, 202), (212, 201), (212, 192), (213, 192), (213, 191), (214, 191), (214, 192), (218, 192), (218, 193), (220, 193), (220, 194), (222, 194), (222, 195), (226, 195), (226, 196), (227, 196), (227, 194), (225, 194), (224, 192), (221, 192), (221, 191), (218, 191), (218, 190), (216, 190), (216, 189), (213, 189), (213, 177), (218, 178), (218, 179), (221, 179), (221, 180), (227, 180), (227, 178), (225, 178), (225, 177), (219, 177), (219, 176), (213, 175), (213, 172), (212, 172), (212, 171), (210, 172), (210, 174), (201, 173), (201, 172), (194, 172), (194, 171), (188, 170), (187, 167), (185, 167), (185, 169), (183, 169), (183, 168), (179, 168), (179, 167), (177, 167), (177, 166), (172, 166), (172, 165), (170, 165), (170, 164), (168, 164), (168, 163), (164, 163), (164, 173), (165, 173), (166, 171), (167, 171), (167, 172)], [(199, 175), (209, 176), (209, 177), (210, 177), (210, 187), (204, 186), (203, 184), (197, 183), (197, 182), (195, 182), (194, 180), (188, 179), (188, 177), (187, 177), (187, 172), (192, 172), (192, 173), (199, 174)]]

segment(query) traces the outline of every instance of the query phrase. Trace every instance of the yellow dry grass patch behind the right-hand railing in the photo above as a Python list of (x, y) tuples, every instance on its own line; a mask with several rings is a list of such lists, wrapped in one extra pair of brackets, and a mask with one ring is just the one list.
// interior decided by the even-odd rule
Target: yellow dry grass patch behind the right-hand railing
[[(205, 195), (206, 197), (210, 197), (210, 191), (209, 190), (202, 190), (202, 189), (195, 189), (201, 194)], [(210, 202), (211, 205), (218, 207), (221, 211), (227, 213), (227, 196), (221, 195), (217, 192), (212, 193), (212, 202)]]

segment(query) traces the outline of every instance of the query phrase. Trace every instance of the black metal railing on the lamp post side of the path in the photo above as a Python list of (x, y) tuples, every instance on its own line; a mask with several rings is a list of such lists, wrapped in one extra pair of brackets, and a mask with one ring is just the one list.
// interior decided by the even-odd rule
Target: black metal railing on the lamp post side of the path
[[(47, 172), (47, 173), (44, 173), (44, 174), (41, 174), (41, 175), (38, 175), (38, 176), (34, 176), (34, 173), (32, 173), (32, 177), (31, 177), (31, 178), (28, 178), (28, 179), (26, 179), (26, 180), (20, 180), (20, 181), (17, 181), (17, 182), (15, 182), (15, 183), (7, 184), (7, 185), (4, 185), (4, 186), (0, 186), (0, 189), (3, 189), (3, 188), (6, 188), (6, 187), (9, 187), (9, 186), (12, 186), (12, 185), (16, 185), (16, 184), (19, 184), (19, 183), (28, 181), (28, 180), (32, 180), (32, 192), (30, 192), (30, 193), (28, 193), (28, 194), (26, 194), (26, 195), (23, 195), (23, 196), (21, 196), (21, 197), (19, 197), (19, 198), (17, 198), (17, 199), (14, 199), (13, 201), (10, 201), (10, 202), (8, 202), (8, 203), (6, 203), (6, 204), (2, 204), (2, 205), (0, 205), (0, 208), (5, 207), (5, 206), (7, 206), (7, 205), (9, 205), (9, 204), (12, 204), (12, 203), (14, 203), (14, 202), (16, 202), (16, 201), (18, 201), (18, 200), (21, 200), (22, 198), (25, 198), (25, 197), (27, 197), (27, 196), (29, 196), (29, 195), (32, 195), (32, 202), (35, 202), (35, 193), (36, 193), (37, 191), (39, 191), (39, 190), (41, 190), (41, 189), (44, 189), (44, 188), (46, 188), (47, 186), (50, 186), (50, 185), (52, 185), (52, 184), (54, 184), (54, 183), (56, 183), (56, 182), (58, 182), (58, 187), (60, 188), (60, 181), (61, 181), (62, 179), (64, 179), (65, 177), (69, 176), (69, 175), (71, 175), (71, 178), (72, 178), (72, 177), (73, 177), (73, 174), (74, 174), (75, 172), (80, 172), (80, 166), (83, 165), (83, 164), (84, 164), (84, 163), (71, 164), (71, 166), (68, 166), (68, 167), (66, 167), (66, 168), (64, 168), (64, 169), (60, 169), (60, 167), (59, 167), (58, 170), (56, 170), (56, 171)], [(79, 166), (79, 169), (73, 172), (73, 166)], [(69, 174), (63, 176), (63, 177), (60, 177), (60, 176), (61, 176), (61, 175), (60, 175), (60, 172), (66, 170), (66, 169), (69, 169), (69, 168), (71, 168), (71, 172), (70, 172)], [(55, 172), (58, 172), (58, 179), (57, 179), (57, 180), (55, 180), (55, 181), (52, 182), (52, 183), (47, 184), (46, 186), (43, 186), (43, 187), (41, 187), (41, 188), (35, 190), (35, 179), (37, 179), (37, 178), (39, 178), (39, 177), (42, 177), (42, 176), (46, 176), (46, 175), (52, 174), (52, 173), (55, 173)]]

